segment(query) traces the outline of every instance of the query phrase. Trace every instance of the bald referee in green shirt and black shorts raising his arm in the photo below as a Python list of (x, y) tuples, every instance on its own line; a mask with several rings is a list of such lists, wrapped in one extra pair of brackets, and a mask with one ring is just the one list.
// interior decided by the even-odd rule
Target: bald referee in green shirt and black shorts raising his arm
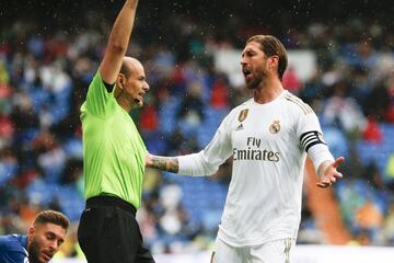
[(129, 116), (149, 90), (142, 65), (125, 57), (138, 0), (127, 0), (81, 106), (84, 196), (78, 240), (90, 263), (151, 263), (136, 220), (147, 148)]

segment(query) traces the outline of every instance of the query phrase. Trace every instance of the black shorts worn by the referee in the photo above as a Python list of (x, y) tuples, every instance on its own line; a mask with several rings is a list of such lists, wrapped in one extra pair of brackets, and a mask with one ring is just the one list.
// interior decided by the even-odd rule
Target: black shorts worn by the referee
[(86, 201), (78, 228), (78, 241), (89, 263), (154, 263), (142, 245), (136, 208), (112, 196)]

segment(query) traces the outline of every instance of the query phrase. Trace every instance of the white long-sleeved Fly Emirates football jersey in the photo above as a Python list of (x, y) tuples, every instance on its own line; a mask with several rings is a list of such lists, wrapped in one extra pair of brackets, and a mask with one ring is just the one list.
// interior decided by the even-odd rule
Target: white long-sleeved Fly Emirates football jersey
[(306, 151), (316, 144), (324, 145), (315, 113), (283, 91), (269, 103), (251, 99), (233, 108), (204, 150), (178, 157), (178, 173), (209, 175), (232, 157), (218, 238), (240, 247), (296, 238)]

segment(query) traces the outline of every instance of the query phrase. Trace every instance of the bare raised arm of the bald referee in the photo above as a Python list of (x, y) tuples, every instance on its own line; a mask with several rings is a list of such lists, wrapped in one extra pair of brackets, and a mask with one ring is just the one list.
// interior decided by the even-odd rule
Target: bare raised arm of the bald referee
[(113, 84), (120, 71), (136, 18), (138, 0), (127, 0), (111, 31), (104, 58), (100, 65), (100, 75), (105, 83)]

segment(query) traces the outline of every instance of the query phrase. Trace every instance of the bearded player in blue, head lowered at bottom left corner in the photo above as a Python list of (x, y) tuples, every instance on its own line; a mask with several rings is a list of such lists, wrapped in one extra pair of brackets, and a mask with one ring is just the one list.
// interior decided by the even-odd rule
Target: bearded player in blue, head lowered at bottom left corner
[(69, 225), (67, 217), (59, 211), (38, 213), (26, 236), (0, 237), (0, 262), (49, 262), (63, 243)]

